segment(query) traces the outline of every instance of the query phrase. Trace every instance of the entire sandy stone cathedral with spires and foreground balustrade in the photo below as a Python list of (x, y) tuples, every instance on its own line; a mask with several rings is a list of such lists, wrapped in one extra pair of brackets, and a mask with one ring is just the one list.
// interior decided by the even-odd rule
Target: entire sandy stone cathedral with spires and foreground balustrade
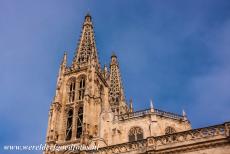
[(92, 18), (85, 16), (71, 66), (60, 64), (46, 145), (97, 146), (94, 150), (49, 150), (45, 154), (230, 154), (230, 122), (192, 129), (182, 115), (126, 102), (118, 57), (99, 63)]

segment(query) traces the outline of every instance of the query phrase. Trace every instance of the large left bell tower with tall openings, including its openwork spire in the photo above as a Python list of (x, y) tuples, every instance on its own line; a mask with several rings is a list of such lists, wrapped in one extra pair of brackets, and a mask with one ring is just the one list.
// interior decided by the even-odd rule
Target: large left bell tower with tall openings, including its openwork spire
[[(101, 70), (92, 17), (87, 14), (71, 66), (65, 52), (49, 111), (47, 145), (85, 144), (99, 137), (99, 119), (109, 108), (108, 83)], [(45, 153), (49, 154), (49, 151)]]

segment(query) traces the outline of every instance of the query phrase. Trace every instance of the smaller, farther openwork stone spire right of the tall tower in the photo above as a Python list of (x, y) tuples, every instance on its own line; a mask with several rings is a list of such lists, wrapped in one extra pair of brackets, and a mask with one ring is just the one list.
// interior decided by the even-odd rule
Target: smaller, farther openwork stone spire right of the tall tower
[(110, 90), (109, 90), (109, 100), (112, 105), (112, 108), (121, 110), (121, 107), (126, 106), (124, 89), (122, 86), (122, 80), (119, 70), (119, 65), (117, 61), (117, 56), (113, 54), (111, 56), (110, 62)]

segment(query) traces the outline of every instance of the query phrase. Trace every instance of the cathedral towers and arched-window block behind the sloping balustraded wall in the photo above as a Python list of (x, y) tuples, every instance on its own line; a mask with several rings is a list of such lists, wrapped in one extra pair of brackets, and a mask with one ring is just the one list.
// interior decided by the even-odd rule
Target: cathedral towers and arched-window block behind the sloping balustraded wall
[(66, 53), (60, 65), (46, 144), (107, 147), (191, 128), (185, 113), (177, 115), (153, 105), (133, 112), (132, 106), (132, 101), (126, 103), (116, 55), (111, 56), (109, 68), (100, 66), (92, 18), (87, 14), (71, 66)]

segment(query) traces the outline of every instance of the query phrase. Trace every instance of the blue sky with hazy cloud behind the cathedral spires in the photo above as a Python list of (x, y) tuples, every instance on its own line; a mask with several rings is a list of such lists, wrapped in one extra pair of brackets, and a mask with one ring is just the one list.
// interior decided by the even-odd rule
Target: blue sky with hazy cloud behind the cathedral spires
[(88, 10), (101, 64), (116, 52), (135, 110), (152, 98), (194, 128), (230, 120), (230, 1), (1, 0), (1, 150), (45, 142), (58, 67)]

